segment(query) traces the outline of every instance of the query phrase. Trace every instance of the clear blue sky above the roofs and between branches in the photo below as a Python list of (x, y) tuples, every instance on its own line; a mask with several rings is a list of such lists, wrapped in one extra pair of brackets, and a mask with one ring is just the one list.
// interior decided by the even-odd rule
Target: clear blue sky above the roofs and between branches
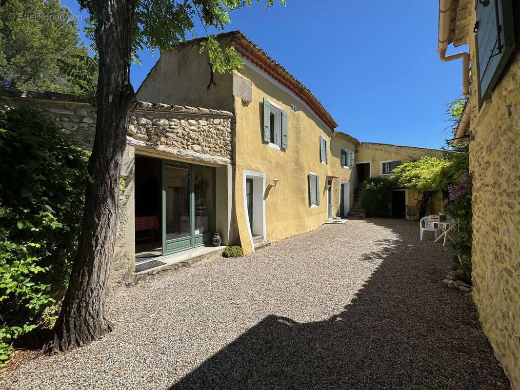
[[(233, 12), (226, 31), (242, 30), (305, 84), (336, 130), (365, 142), (444, 145), (445, 103), (460, 95), (462, 63), (438, 58), (436, 1), (287, 3), (266, 11), (261, 0)], [(87, 15), (75, 0), (62, 4)], [(196, 33), (204, 35), (202, 28)], [(448, 54), (459, 49), (450, 47)], [(140, 57), (142, 66), (131, 70), (136, 90), (159, 54)]]

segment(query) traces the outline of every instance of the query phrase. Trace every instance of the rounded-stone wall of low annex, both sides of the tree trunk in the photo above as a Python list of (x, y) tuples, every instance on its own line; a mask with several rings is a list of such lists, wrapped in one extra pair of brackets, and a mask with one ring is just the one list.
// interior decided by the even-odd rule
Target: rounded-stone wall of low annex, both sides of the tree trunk
[[(96, 112), (88, 101), (72, 95), (6, 88), (0, 89), (0, 104), (39, 110), (82, 148), (92, 150)], [(110, 268), (113, 285), (132, 282), (135, 275), (135, 154), (225, 167), (232, 160), (231, 119), (228, 111), (138, 102), (128, 128), (121, 168), (123, 186)]]

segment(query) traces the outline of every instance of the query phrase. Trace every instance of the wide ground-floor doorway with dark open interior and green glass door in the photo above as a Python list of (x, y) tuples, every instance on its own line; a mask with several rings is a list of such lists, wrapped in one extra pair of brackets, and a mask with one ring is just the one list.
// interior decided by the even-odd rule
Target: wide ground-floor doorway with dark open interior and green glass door
[(136, 262), (210, 244), (215, 168), (135, 158)]

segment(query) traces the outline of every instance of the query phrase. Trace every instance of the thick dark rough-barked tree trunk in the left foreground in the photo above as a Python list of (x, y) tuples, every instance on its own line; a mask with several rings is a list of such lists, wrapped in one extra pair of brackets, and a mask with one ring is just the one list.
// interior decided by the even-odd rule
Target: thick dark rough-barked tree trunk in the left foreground
[(136, 98), (130, 84), (131, 28), (136, 0), (97, 0), (97, 122), (83, 226), (69, 287), (46, 352), (89, 344), (112, 329), (105, 297), (114, 252), (121, 162)]

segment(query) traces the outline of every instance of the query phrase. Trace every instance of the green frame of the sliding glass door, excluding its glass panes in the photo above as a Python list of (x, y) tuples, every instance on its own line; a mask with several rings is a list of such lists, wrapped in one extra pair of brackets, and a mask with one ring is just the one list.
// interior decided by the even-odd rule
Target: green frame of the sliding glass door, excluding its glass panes
[[(188, 237), (177, 238), (172, 240), (166, 240), (166, 166), (170, 164), (175, 165), (184, 165), (188, 168), (188, 191), (189, 191), (189, 216), (190, 216), (190, 234), (189, 240)], [(189, 250), (192, 248), (197, 248), (198, 246), (202, 246), (205, 243), (210, 243), (211, 238), (213, 236), (213, 231), (203, 232), (198, 235), (195, 234), (195, 180), (194, 178), (194, 167), (202, 167), (202, 168), (211, 168), (212, 169), (212, 178), (213, 178), (213, 229), (216, 226), (216, 175), (215, 175), (215, 167), (207, 166), (207, 165), (198, 165), (198, 164), (190, 164), (182, 161), (175, 160), (164, 160), (161, 159), (161, 169), (162, 169), (162, 254), (172, 254), (176, 252), (181, 252), (185, 250)], [(187, 243), (183, 245), (183, 243)]]

